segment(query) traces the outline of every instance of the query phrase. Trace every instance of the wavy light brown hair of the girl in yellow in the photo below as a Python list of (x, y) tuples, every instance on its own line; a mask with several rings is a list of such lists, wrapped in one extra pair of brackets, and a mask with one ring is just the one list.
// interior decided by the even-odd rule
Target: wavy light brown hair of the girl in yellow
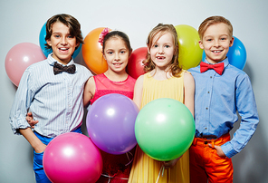
[[(168, 72), (171, 72), (173, 76), (179, 76), (181, 72), (181, 68), (178, 65), (178, 39), (177, 39), (177, 31), (173, 24), (158, 24), (156, 27), (154, 27), (151, 32), (148, 34), (147, 39), (147, 46), (150, 48), (153, 44), (153, 39), (155, 36), (160, 33), (158, 38), (160, 38), (163, 34), (170, 33), (173, 36), (174, 41), (174, 47), (175, 47), (175, 53), (173, 55), (172, 61), (170, 63), (170, 67), (168, 69)], [(155, 63), (150, 58), (149, 53), (147, 53), (147, 59), (143, 61), (144, 63), (144, 71), (150, 72), (155, 69)]]

